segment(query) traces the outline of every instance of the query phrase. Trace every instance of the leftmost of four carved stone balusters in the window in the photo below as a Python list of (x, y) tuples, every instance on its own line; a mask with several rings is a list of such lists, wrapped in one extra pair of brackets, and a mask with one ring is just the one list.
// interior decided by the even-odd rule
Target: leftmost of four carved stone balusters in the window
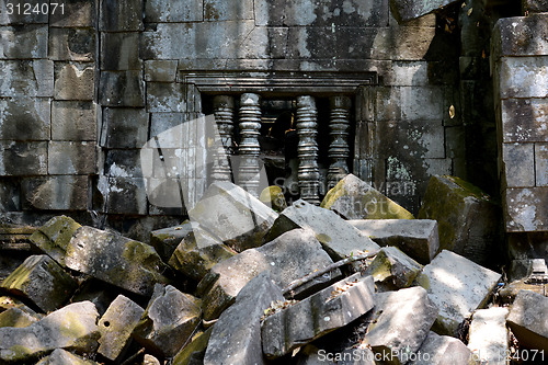
[(214, 145), (214, 164), (212, 168), (212, 182), (232, 181), (230, 156), (233, 155), (233, 110), (232, 96), (218, 95), (213, 99), (217, 132)]

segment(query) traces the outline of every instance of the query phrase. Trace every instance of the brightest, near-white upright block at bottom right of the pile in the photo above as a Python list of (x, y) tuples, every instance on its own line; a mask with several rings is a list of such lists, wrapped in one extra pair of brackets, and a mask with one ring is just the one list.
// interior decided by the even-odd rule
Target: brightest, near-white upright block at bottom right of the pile
[(509, 330), (506, 329), (507, 308), (476, 310), (468, 330), (468, 349), (482, 364), (507, 364)]

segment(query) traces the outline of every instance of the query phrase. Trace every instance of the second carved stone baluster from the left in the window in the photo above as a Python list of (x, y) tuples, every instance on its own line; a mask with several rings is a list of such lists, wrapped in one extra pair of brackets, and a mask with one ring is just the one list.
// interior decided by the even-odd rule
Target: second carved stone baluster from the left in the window
[(240, 172), (238, 184), (254, 196), (259, 196), (259, 136), (261, 129), (260, 95), (246, 93), (240, 99)]

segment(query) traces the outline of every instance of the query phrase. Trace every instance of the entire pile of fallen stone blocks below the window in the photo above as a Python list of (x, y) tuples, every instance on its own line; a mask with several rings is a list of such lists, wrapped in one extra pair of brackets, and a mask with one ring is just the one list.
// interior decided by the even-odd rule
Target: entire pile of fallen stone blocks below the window
[(55, 217), (0, 285), (0, 364), (541, 360), (544, 287), (479, 264), (498, 249), (495, 214), (473, 186), (434, 176), (414, 219), (347, 175), (321, 207), (279, 214), (215, 183), (150, 244)]

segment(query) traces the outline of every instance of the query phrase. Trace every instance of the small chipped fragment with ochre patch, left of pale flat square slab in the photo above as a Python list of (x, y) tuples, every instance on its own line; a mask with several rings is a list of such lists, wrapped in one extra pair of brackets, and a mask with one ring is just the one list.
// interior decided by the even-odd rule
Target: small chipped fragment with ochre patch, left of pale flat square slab
[(422, 265), (395, 247), (381, 248), (365, 270), (372, 275), (379, 292), (402, 289), (411, 286)]

